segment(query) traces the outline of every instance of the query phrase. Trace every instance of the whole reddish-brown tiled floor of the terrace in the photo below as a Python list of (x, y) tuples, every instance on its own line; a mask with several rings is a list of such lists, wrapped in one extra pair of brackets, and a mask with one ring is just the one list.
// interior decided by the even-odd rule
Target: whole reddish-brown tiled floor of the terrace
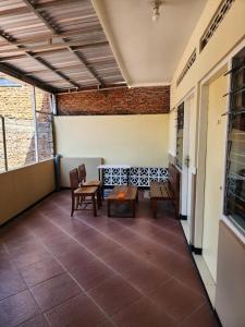
[(70, 217), (52, 194), (0, 229), (0, 326), (218, 326), (182, 228), (163, 204), (150, 218)]

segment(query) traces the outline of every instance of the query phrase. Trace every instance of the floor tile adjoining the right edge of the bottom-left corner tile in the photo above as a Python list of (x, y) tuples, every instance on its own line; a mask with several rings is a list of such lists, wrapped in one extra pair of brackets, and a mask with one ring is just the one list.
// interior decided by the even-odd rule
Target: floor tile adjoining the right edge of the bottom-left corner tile
[(81, 289), (66, 274), (38, 283), (32, 293), (42, 312), (64, 302), (81, 293)]

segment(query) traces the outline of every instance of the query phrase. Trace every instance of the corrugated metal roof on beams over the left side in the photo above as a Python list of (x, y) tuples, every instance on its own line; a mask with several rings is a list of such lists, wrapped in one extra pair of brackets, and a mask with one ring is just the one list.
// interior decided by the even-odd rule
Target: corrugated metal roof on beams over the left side
[(1, 0), (0, 71), (54, 93), (124, 84), (89, 0)]

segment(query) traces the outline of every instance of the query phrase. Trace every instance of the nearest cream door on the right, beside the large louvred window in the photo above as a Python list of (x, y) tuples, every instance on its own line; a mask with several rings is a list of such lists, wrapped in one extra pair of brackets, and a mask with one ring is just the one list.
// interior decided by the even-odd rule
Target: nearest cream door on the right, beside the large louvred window
[(209, 84), (208, 92), (208, 129), (205, 174), (205, 207), (203, 255), (212, 275), (217, 278), (217, 252), (219, 237), (219, 218), (222, 213), (224, 175), (224, 120), (226, 77), (220, 76)]

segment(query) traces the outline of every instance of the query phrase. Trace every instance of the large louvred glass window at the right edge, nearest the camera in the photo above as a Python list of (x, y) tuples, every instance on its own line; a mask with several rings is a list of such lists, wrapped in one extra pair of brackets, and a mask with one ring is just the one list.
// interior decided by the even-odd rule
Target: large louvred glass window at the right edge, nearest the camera
[(245, 232), (245, 48), (232, 60), (224, 213)]

